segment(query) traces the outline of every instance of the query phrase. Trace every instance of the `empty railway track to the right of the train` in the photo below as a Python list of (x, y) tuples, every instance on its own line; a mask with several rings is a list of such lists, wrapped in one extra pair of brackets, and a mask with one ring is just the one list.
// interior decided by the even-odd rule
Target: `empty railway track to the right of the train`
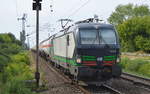
[(137, 75), (122, 73), (121, 78), (150, 91), (150, 79)]

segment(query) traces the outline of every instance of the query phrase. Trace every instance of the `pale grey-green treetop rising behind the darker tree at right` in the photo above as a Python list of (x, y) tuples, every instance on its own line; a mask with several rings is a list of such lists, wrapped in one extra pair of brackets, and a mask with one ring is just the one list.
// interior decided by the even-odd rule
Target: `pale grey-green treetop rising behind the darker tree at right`
[(150, 15), (150, 10), (147, 5), (119, 5), (108, 18), (108, 22), (118, 25), (133, 17), (142, 17), (147, 15)]

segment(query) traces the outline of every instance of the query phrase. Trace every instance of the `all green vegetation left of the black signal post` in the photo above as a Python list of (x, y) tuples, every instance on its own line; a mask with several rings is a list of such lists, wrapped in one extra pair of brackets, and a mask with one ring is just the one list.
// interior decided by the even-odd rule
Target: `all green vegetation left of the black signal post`
[(0, 94), (34, 94), (25, 83), (33, 79), (28, 52), (13, 34), (0, 34)]

